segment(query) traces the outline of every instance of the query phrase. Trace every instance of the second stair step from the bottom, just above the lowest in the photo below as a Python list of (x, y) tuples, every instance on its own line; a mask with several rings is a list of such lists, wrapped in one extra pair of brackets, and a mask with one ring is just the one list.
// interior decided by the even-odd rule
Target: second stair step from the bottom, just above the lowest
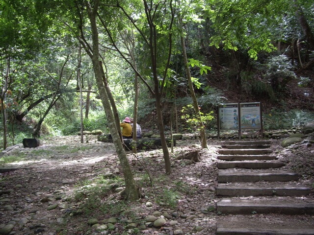
[(230, 214), (314, 214), (314, 202), (304, 197), (224, 198), (217, 203), (216, 210)]

